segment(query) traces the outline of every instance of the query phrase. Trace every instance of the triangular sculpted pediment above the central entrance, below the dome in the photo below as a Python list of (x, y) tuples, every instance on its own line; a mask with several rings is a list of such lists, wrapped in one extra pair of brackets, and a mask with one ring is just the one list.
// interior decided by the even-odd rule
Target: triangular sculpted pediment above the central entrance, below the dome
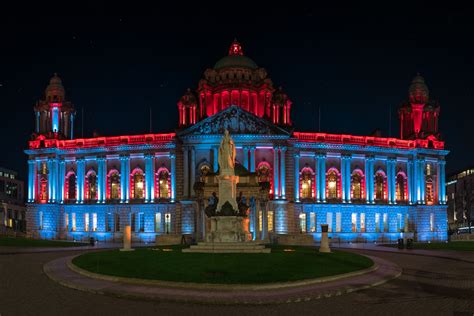
[(231, 106), (197, 124), (179, 131), (178, 136), (231, 134), (290, 135), (291, 133), (265, 119), (249, 113), (238, 106)]

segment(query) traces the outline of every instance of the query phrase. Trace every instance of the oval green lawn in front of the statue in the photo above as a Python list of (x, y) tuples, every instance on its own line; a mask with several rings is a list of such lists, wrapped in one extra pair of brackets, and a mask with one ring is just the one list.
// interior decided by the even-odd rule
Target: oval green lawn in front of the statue
[(73, 263), (90, 272), (113, 276), (223, 284), (297, 281), (373, 265), (372, 260), (361, 255), (340, 251), (318, 253), (310, 247), (275, 246), (270, 254), (183, 253), (181, 249), (174, 246), (94, 252), (76, 257)]

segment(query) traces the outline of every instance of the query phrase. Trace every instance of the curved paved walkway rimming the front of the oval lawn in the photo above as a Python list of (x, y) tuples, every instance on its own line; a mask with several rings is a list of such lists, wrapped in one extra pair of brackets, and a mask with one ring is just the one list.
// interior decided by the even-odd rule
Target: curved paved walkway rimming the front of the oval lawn
[[(72, 271), (68, 264), (74, 256), (53, 260), (44, 265), (46, 275), (59, 284), (94, 294), (158, 301), (195, 302), (206, 304), (278, 304), (297, 303), (339, 296), (383, 284), (401, 275), (401, 268), (387, 260), (369, 256), (377, 265), (364, 274), (352, 273), (332, 281), (304, 280), (299, 286), (273, 285), (213, 285), (161, 282), (118, 277), (91, 277), (93, 274)], [(75, 268), (76, 269), (76, 268)], [(356, 275), (357, 274), (357, 275)], [(107, 280), (105, 280), (107, 278)], [(337, 279), (335, 279), (337, 278)], [(335, 279), (335, 280), (334, 280)], [(142, 282), (143, 281), (143, 282)], [(318, 282), (319, 281), (319, 282)], [(304, 283), (304, 284), (303, 284)], [(198, 288), (201, 287), (201, 288)], [(205, 289), (204, 289), (205, 287)]]

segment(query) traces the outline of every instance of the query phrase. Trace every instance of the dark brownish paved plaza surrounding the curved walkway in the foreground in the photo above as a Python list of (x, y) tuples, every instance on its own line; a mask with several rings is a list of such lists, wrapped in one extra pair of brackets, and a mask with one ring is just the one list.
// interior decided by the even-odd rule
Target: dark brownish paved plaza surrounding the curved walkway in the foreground
[[(353, 249), (389, 260), (403, 274), (383, 285), (309, 302), (225, 306), (155, 302), (90, 294), (50, 280), (43, 265), (81, 251), (0, 255), (0, 314), (6, 315), (472, 315), (474, 263), (472, 253), (453, 253), (460, 261), (428, 254), (410, 255)], [(449, 254), (449, 253), (448, 253)], [(447, 268), (449, 267), (449, 269)]]

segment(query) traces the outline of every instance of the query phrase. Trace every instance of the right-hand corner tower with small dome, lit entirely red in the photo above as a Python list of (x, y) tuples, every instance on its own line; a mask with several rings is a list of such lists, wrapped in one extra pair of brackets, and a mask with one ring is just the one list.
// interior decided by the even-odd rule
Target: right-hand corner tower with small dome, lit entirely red
[(402, 103), (398, 111), (400, 138), (438, 140), (439, 111), (438, 102), (430, 99), (425, 79), (417, 74), (408, 88), (408, 100)]

